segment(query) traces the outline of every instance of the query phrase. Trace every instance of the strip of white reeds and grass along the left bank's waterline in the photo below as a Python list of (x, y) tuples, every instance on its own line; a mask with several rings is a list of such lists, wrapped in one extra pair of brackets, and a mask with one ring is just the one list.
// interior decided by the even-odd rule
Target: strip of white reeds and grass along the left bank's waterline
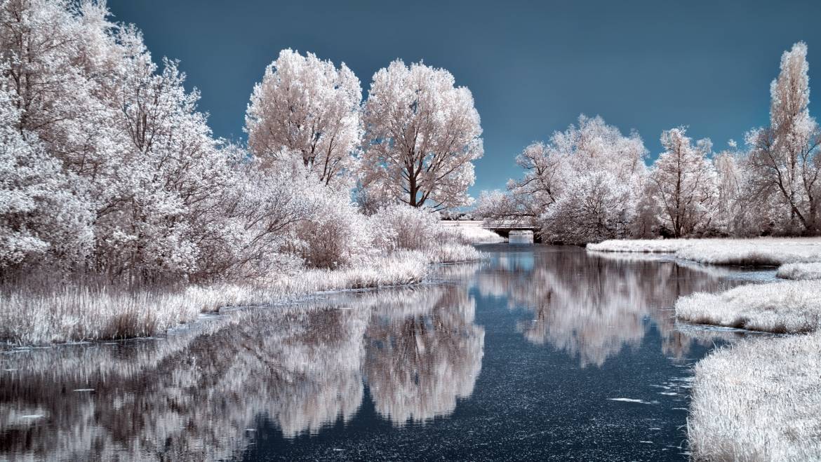
[(406, 286), (424, 281), (437, 263), (478, 261), (458, 242), (399, 250), (333, 270), (303, 270), (268, 281), (186, 286), (177, 290), (122, 290), (112, 286), (19, 286), (0, 294), (0, 340), (16, 345), (103, 341), (156, 336), (201, 313), (235, 306), (282, 304), (319, 292)]

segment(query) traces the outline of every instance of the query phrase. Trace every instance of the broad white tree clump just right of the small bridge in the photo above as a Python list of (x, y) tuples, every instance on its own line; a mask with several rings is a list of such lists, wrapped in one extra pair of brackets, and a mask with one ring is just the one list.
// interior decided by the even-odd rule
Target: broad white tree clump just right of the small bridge
[(521, 180), (508, 181), (507, 197), (485, 194), (479, 213), (496, 220), (540, 223), (544, 238), (589, 242), (626, 236), (646, 173), (640, 136), (621, 134), (601, 117), (534, 143), (516, 163)]

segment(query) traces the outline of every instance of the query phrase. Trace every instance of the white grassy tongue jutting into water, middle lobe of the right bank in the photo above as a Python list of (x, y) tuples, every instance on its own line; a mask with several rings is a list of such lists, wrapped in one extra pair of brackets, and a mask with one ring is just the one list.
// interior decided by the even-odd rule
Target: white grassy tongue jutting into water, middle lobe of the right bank
[(677, 318), (765, 332), (811, 332), (821, 318), (821, 281), (750, 284), (719, 294), (695, 293), (676, 302)]

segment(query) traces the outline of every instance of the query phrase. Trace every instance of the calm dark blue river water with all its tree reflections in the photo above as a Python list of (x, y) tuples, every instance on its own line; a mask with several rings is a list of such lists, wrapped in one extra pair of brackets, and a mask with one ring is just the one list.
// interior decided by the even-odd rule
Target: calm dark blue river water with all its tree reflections
[(686, 460), (679, 295), (773, 272), (493, 245), (441, 283), (0, 355), (0, 460)]

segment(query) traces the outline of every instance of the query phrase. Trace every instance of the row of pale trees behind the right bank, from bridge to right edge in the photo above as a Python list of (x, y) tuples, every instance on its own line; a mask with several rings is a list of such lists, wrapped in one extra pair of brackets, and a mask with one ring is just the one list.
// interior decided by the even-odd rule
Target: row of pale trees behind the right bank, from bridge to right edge
[(821, 130), (810, 117), (805, 43), (781, 59), (770, 125), (713, 153), (685, 127), (665, 130), (646, 167), (639, 135), (581, 116), (516, 158), (507, 192), (483, 194), (478, 213), (540, 227), (545, 240), (586, 243), (654, 236), (814, 236), (821, 233)]

